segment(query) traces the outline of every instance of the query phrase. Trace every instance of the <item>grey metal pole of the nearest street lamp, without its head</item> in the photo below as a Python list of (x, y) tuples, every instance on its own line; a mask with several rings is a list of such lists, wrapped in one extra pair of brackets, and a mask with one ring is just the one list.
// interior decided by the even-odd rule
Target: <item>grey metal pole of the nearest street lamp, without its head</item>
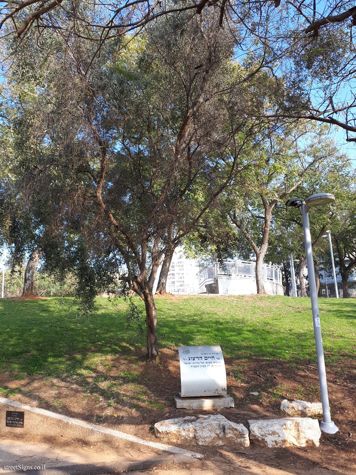
[(335, 432), (338, 431), (338, 428), (336, 427), (334, 422), (331, 420), (331, 416), (330, 416), (328, 384), (327, 384), (327, 379), (326, 379), (323, 341), (321, 338), (318, 294), (317, 294), (317, 285), (315, 282), (314, 261), (313, 261), (313, 251), (311, 247), (308, 211), (309, 211), (309, 206), (307, 206), (305, 202), (302, 201), (301, 216), (303, 220), (305, 254), (307, 257), (307, 268), (308, 268), (308, 277), (309, 277), (311, 311), (313, 314), (315, 346), (317, 349), (320, 396), (321, 396), (321, 404), (323, 406), (323, 421), (320, 422), (320, 429), (323, 432), (326, 432), (328, 434), (335, 434)]

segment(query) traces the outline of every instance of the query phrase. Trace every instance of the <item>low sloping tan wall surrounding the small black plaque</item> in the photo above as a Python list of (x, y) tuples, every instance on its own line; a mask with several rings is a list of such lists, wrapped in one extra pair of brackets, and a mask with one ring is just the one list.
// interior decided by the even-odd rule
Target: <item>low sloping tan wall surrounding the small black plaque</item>
[[(24, 411), (24, 428), (5, 427), (6, 411)], [(26, 437), (41, 437), (43, 440), (57, 437), (58, 442), (70, 442), (73, 439), (90, 443), (106, 442), (117, 447), (120, 446), (120, 442), (127, 441), (172, 454), (182, 454), (197, 459), (204, 458), (203, 454), (198, 454), (197, 452), (191, 452), (190, 450), (159, 442), (150, 442), (125, 432), (97, 426), (90, 422), (64, 416), (46, 409), (26, 406), (11, 399), (0, 398), (0, 435), (4, 437), (20, 434)]]

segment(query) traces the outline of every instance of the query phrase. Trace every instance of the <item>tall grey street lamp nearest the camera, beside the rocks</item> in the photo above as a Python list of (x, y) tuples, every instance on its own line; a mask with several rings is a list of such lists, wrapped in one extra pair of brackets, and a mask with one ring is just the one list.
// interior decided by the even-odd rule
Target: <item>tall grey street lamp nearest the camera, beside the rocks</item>
[(321, 396), (321, 404), (323, 406), (323, 420), (320, 422), (320, 429), (323, 432), (326, 432), (328, 434), (335, 434), (335, 432), (338, 431), (338, 428), (336, 427), (334, 422), (331, 420), (331, 415), (330, 415), (328, 384), (327, 384), (327, 379), (326, 379), (323, 341), (321, 338), (318, 294), (317, 294), (317, 285), (315, 282), (314, 261), (313, 261), (313, 251), (311, 247), (308, 211), (310, 208), (313, 208), (314, 206), (326, 205), (328, 203), (331, 203), (334, 200), (335, 200), (335, 196), (332, 195), (331, 193), (317, 193), (315, 195), (309, 196), (309, 198), (307, 198), (305, 201), (302, 201), (300, 198), (293, 198), (293, 199), (289, 199), (286, 202), (287, 206), (294, 206), (297, 208), (301, 208), (301, 216), (302, 216), (303, 231), (304, 231), (304, 246), (305, 246), (305, 253), (307, 257), (307, 268), (308, 268), (308, 276), (309, 276), (311, 312), (313, 314), (315, 346), (317, 349), (320, 396)]

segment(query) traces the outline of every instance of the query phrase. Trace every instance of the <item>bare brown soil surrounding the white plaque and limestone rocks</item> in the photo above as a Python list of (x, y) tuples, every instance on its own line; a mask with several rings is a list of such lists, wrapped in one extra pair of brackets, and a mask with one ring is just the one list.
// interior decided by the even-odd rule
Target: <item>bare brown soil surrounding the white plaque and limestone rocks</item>
[[(32, 376), (27, 380), (13, 380), (5, 373), (0, 374), (0, 386), (21, 389), (16, 395), (9, 396), (11, 399), (152, 441), (156, 440), (152, 433), (155, 422), (197, 414), (196, 411), (175, 409), (173, 405), (172, 396), (180, 390), (177, 349), (161, 350), (157, 367), (148, 365), (143, 353), (133, 355), (130, 351), (128, 354), (132, 356), (118, 355), (106, 359), (103, 364), (98, 362), (96, 374), (89, 374), (81, 380), (68, 375), (61, 378)], [(138, 359), (134, 361), (133, 356)], [(234, 397), (235, 407), (221, 410), (220, 413), (234, 422), (242, 422), (247, 426), (250, 418), (280, 418), (280, 404), (285, 398), (311, 402), (318, 400), (319, 380), (314, 366), (290, 367), (285, 361), (266, 362), (258, 358), (251, 361), (226, 358), (225, 365), (228, 392)], [(140, 371), (140, 384), (122, 380), (123, 368), (128, 373)], [(99, 376), (105, 382), (119, 384), (121, 381), (121, 402), (117, 402), (118, 396), (113, 394), (112, 406), (108, 406), (108, 400), (100, 396), (100, 384), (96, 379)], [(163, 464), (154, 470), (156, 473), (167, 473), (169, 470), (173, 475), (356, 473), (355, 361), (343, 359), (340, 368), (328, 370), (327, 377), (332, 417), (339, 432), (334, 436), (322, 434), (318, 448), (274, 450), (253, 444), (243, 450), (238, 447), (185, 447), (203, 453), (205, 460), (196, 462), (194, 468), (177, 464), (173, 469)], [(144, 400), (138, 398), (142, 388), (146, 391)], [(250, 395), (251, 391), (258, 391), (260, 396)], [(150, 471), (153, 471), (153, 467)]]

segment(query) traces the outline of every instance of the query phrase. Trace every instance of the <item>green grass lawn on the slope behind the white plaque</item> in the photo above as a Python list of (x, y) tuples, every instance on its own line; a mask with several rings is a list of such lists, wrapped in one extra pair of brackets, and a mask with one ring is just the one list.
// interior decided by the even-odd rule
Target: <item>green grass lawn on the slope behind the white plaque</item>
[[(143, 304), (137, 299), (143, 309)], [(145, 337), (127, 329), (127, 304), (98, 299), (98, 314), (76, 318), (56, 298), (0, 302), (0, 371), (74, 374), (93, 356), (145, 347)], [(160, 347), (220, 344), (225, 356), (314, 361), (315, 342), (307, 298), (224, 296), (157, 298)], [(321, 330), (328, 364), (356, 355), (356, 300), (319, 299)]]

